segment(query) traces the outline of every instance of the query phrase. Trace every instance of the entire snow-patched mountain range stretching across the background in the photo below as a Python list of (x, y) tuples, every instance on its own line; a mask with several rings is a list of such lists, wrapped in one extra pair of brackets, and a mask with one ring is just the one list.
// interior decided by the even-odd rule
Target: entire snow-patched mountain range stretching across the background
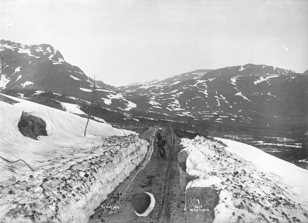
[[(51, 45), (0, 41), (5, 56), (0, 87), (51, 91), (91, 100), (91, 82)], [(306, 71), (305, 71), (306, 72)], [(191, 117), (223, 123), (304, 123), (308, 128), (308, 75), (278, 67), (246, 64), (133, 83), (115, 88), (97, 82), (99, 105), (135, 114)]]

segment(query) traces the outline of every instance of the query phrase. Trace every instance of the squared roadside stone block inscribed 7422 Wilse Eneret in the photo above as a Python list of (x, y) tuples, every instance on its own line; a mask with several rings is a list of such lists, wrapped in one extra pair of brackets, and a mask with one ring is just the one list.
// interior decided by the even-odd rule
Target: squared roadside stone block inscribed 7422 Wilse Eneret
[(212, 223), (219, 196), (213, 187), (191, 187), (185, 194), (185, 223)]

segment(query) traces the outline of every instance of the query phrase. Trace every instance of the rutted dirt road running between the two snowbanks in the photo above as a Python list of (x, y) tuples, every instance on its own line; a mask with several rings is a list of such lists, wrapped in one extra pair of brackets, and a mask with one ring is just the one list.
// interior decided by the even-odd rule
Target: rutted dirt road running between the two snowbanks
[[(161, 160), (159, 156), (155, 157), (152, 153), (153, 148), (149, 146), (144, 161), (101, 204), (116, 205), (119, 206), (119, 209), (111, 210), (99, 206), (95, 210), (95, 214), (90, 217), (89, 223), (184, 222), (185, 197), (180, 194), (180, 176), (176, 164), (176, 154), (172, 146), (169, 128), (162, 128), (163, 135), (168, 141), (166, 158)], [(140, 137), (148, 140), (152, 145), (153, 140), (156, 140), (156, 129), (150, 128)], [(153, 194), (156, 203), (148, 216), (138, 217), (132, 201), (143, 199), (144, 192)]]

